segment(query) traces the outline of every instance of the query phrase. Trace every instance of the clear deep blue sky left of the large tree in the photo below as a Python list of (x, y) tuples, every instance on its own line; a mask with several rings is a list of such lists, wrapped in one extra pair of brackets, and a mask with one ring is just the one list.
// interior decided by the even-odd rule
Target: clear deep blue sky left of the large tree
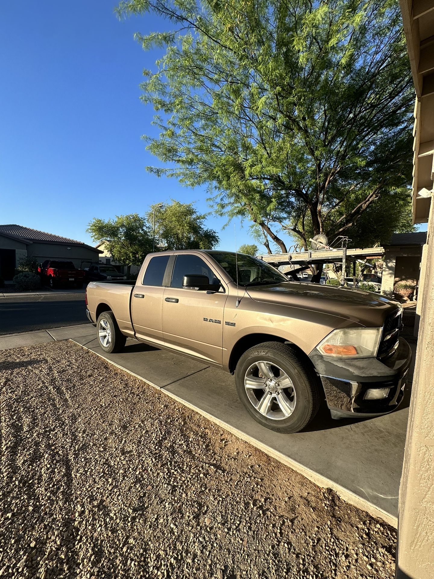
[[(139, 101), (145, 53), (134, 32), (164, 30), (156, 17), (119, 21), (113, 0), (23, 0), (2, 4), (0, 19), (0, 223), (19, 223), (92, 243), (93, 217), (144, 214), (171, 198), (207, 193), (146, 172), (158, 164), (141, 141), (153, 134), (151, 107)], [(234, 227), (210, 216), (220, 247)], [(289, 241), (289, 240), (288, 240)], [(237, 222), (237, 244), (252, 243)]]

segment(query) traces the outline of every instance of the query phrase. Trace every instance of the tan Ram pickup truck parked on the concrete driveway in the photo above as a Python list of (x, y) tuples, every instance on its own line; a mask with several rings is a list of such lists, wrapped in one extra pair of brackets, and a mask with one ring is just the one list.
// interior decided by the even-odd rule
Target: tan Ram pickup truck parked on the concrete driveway
[(136, 282), (90, 283), (86, 306), (105, 352), (130, 337), (223, 368), (247, 412), (277, 432), (306, 427), (324, 398), (333, 418), (383, 415), (403, 398), (411, 350), (398, 303), (289, 281), (260, 258), (149, 254)]

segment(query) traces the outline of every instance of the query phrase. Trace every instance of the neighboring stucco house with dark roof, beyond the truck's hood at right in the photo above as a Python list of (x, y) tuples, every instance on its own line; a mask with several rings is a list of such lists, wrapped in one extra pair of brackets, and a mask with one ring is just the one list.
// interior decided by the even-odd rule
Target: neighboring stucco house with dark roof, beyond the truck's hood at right
[(422, 246), (426, 232), (393, 233), (384, 247), (381, 293), (392, 295), (393, 286), (399, 281), (418, 285), (422, 259)]

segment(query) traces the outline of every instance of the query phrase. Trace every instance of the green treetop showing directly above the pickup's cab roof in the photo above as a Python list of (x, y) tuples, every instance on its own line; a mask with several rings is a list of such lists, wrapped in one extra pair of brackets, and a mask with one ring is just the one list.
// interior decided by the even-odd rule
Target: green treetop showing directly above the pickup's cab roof
[[(151, 226), (155, 207), (146, 216)], [(156, 243), (167, 250), (211, 250), (219, 243), (219, 237), (213, 229), (205, 228), (205, 217), (198, 214), (192, 203), (172, 200), (156, 211)]]

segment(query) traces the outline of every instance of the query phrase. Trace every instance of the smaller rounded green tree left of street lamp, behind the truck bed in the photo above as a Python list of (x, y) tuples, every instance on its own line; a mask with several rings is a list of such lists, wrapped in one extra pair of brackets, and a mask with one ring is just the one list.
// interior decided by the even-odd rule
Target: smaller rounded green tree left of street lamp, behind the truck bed
[(141, 266), (145, 256), (152, 251), (149, 225), (137, 213), (116, 215), (115, 219), (108, 221), (94, 218), (86, 231), (97, 243), (104, 241), (113, 259), (127, 266), (128, 277), (130, 267)]

